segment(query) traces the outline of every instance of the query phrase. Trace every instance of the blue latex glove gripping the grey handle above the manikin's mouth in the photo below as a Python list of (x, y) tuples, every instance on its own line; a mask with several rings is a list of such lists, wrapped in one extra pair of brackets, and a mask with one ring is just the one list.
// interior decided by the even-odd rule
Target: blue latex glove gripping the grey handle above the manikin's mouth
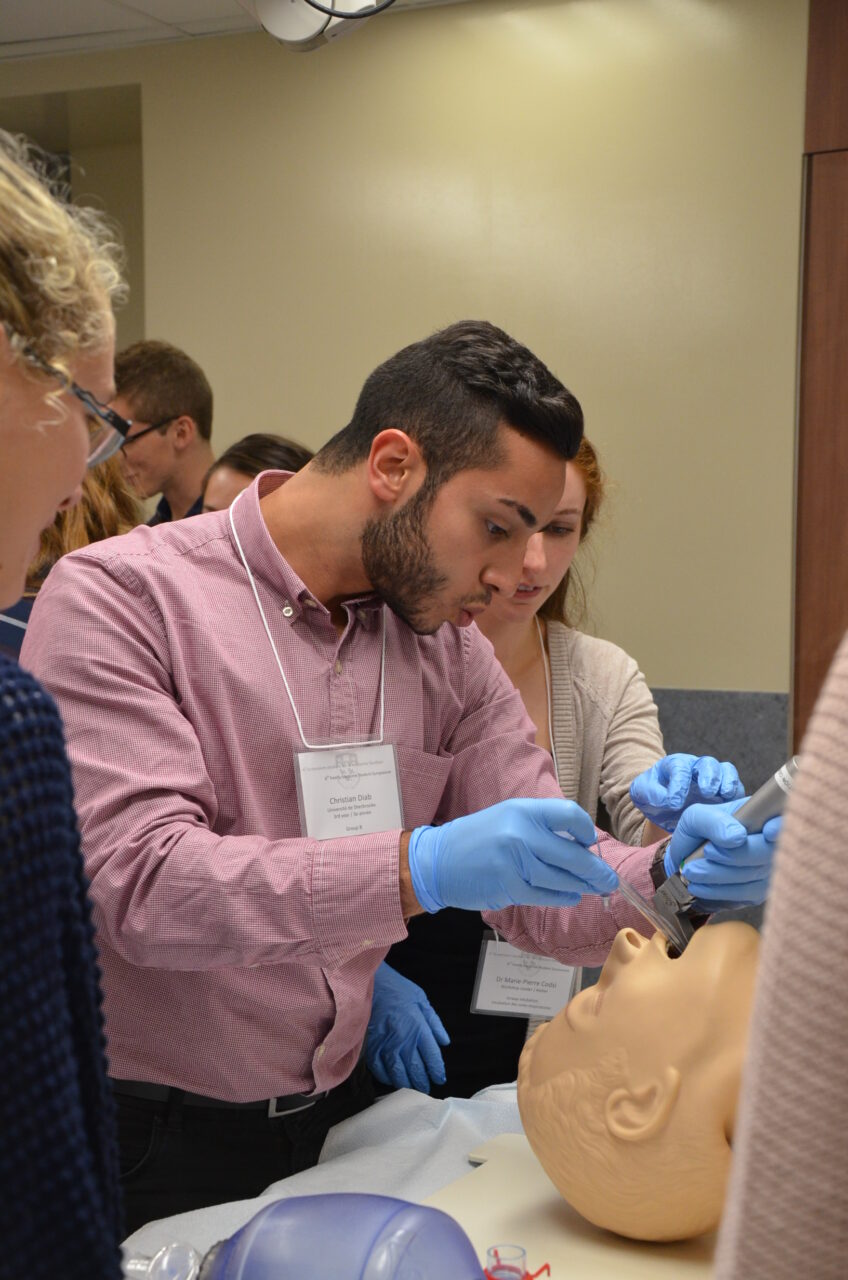
[(769, 878), (781, 818), (770, 818), (761, 832), (749, 836), (733, 813), (744, 801), (693, 804), (678, 823), (678, 829), (662, 858), (666, 876), (708, 841), (703, 856), (683, 868), (683, 877), (698, 901), (731, 906), (758, 906), (769, 895)]

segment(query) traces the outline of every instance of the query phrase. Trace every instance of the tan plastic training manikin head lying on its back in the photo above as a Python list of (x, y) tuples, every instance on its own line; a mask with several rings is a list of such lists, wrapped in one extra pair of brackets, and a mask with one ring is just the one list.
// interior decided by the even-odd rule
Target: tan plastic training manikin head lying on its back
[(698, 929), (679, 960), (623, 929), (596, 987), (528, 1041), (519, 1108), (542, 1167), (584, 1217), (683, 1240), (721, 1216), (758, 934)]

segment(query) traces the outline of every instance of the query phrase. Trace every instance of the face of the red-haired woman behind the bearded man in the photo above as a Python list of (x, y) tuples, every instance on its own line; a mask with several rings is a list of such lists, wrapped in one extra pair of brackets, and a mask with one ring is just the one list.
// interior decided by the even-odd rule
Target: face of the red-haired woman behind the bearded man
[(565, 489), (551, 520), (526, 544), (521, 577), (516, 589), (492, 598), (483, 628), (491, 622), (518, 622), (539, 612), (571, 567), (580, 545), (580, 525), (585, 507), (585, 480), (574, 462), (565, 472)]

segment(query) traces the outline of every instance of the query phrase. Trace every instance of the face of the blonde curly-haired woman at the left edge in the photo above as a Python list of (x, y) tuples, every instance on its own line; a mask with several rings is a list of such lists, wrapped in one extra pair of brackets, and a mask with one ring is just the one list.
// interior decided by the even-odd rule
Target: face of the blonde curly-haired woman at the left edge
[[(49, 380), (33, 380), (10, 358), (5, 334), (0, 343), (0, 607), (23, 594), (27, 568), (38, 550), (41, 531), (56, 512), (76, 506), (88, 458), (83, 406), (61, 393), (45, 393)], [(102, 403), (113, 390), (114, 340), (96, 355), (81, 356), (72, 379)]]

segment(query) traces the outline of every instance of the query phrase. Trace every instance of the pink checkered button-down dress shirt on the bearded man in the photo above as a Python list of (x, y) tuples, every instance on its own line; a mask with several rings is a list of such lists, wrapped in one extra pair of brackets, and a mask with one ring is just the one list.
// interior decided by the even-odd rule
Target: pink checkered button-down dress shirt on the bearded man
[[(268, 534), (265, 472), (236, 527), (309, 741), (379, 732), (375, 596), (338, 635)], [(418, 636), (386, 609), (386, 739), (407, 828), (559, 795), (477, 627)], [(328, 1089), (356, 1064), (374, 970), (406, 936), (400, 832), (300, 828), (295, 718), (228, 513), (142, 526), (61, 559), (23, 663), (55, 695), (73, 763), (111, 1074), (232, 1101)], [(649, 850), (605, 856), (651, 892)], [(617, 900), (616, 900), (617, 901)], [(510, 941), (601, 963), (625, 904), (487, 916)]]

